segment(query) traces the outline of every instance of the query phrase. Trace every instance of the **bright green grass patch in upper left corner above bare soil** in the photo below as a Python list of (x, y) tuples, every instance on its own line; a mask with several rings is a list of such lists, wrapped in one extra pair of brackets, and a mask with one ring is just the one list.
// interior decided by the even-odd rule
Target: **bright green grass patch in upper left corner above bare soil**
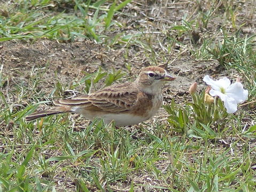
[[(102, 7), (105, 1), (90, 4), (83, 1), (16, 1), (14, 6), (4, 6), (0, 23), (0, 42), (11, 39), (28, 41), (38, 38), (58, 39), (58, 41), (73, 41), (75, 38), (94, 38), (102, 42), (102, 35), (111, 25), (115, 12), (122, 9), (131, 0), (120, 4), (114, 3), (110, 9)], [(64, 5), (61, 5), (63, 3)], [(18, 7), (15, 7), (18, 6)], [(65, 12), (62, 6), (72, 6), (74, 13)], [(88, 17), (88, 9), (94, 11), (93, 17)], [(56, 10), (57, 9), (57, 10)], [(58, 12), (58, 9), (63, 11)], [(18, 10), (18, 12), (17, 12)], [(99, 15), (99, 12), (104, 12)], [(77, 13), (77, 15), (75, 14)], [(102, 21), (105, 20), (105, 25)]]

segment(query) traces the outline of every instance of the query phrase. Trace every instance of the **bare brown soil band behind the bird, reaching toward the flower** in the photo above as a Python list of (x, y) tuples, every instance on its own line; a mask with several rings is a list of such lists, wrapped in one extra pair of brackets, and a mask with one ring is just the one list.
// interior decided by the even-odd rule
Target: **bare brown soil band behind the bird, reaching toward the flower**
[[(96, 44), (90, 40), (73, 43), (58, 43), (40, 39), (30, 44), (26, 42), (8, 41), (0, 45), (0, 57), (3, 65), (3, 76), (9, 79), (9, 86), (27, 80), (33, 69), (46, 67), (46, 73), (41, 82), (42, 89), (52, 91), (56, 81), (70, 83), (74, 79), (82, 78), (81, 71), (95, 72), (98, 67), (110, 71), (112, 67), (125, 71), (132, 79), (136, 78), (139, 70), (149, 66), (150, 62), (141, 51), (129, 51), (129, 59), (123, 58), (120, 50), (109, 49), (103, 44)], [(122, 50), (121, 50), (122, 51)], [(131, 74), (125, 63), (132, 63)], [(198, 62), (186, 58), (179, 58), (168, 65), (170, 74), (177, 77), (176, 81), (168, 85), (168, 90), (177, 95), (188, 91), (193, 81), (202, 82), (202, 76), (207, 73), (205, 61)], [(159, 62), (159, 64), (165, 64)], [(216, 61), (207, 62), (207, 66), (218, 66)], [(211, 74), (214, 75), (214, 74)], [(174, 94), (174, 95), (175, 95)]]

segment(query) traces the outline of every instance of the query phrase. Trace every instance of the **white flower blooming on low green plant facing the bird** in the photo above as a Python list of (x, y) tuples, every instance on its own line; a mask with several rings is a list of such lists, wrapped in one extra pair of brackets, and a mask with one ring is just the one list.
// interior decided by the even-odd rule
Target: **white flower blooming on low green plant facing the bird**
[(236, 82), (230, 85), (227, 77), (214, 81), (208, 75), (203, 78), (207, 85), (211, 85), (210, 95), (219, 96), (224, 101), (224, 106), (228, 113), (237, 111), (237, 104), (244, 102), (248, 98), (248, 90), (244, 90), (242, 83)]

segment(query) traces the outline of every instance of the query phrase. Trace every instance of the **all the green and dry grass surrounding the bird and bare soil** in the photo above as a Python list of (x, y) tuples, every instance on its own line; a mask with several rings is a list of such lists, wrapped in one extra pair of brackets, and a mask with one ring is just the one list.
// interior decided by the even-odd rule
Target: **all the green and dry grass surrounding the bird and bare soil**
[[(31, 67), (29, 78), (17, 74), (19, 81), (11, 81), (0, 63), (0, 191), (255, 191), (255, 35), (242, 33), (245, 22), (236, 20), (241, 5), (222, 2), (197, 2), (201, 9), (192, 7), (195, 12), (182, 15), (174, 26), (155, 21), (157, 26), (148, 30), (134, 22), (136, 31), (128, 32), (134, 14), (123, 10), (128, 3), (139, 7), (136, 1), (17, 0), (3, 5), (1, 42), (88, 38), (111, 49), (123, 47), (129, 73), (133, 47), (150, 65), (186, 57), (198, 63), (214, 60), (220, 73), (233, 80), (243, 77), (249, 99), (233, 115), (225, 113), (220, 101), (207, 106), (203, 93), (193, 103), (190, 96), (175, 98), (165, 106), (167, 119), (120, 129), (67, 114), (27, 123), (27, 114), (66, 90), (88, 93), (127, 81), (128, 74), (99, 67), (95, 73), (82, 71), (82, 78), (69, 84), (56, 77), (54, 89), (47, 91), (41, 83), (50, 63)], [(222, 26), (215, 30), (220, 18)], [(180, 40), (193, 39), (195, 31), (201, 31), (200, 40)]]

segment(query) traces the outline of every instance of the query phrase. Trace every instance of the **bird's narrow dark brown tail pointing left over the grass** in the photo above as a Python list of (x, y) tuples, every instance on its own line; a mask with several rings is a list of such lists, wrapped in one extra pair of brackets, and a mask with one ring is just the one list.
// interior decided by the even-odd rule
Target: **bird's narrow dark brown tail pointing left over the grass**
[(41, 118), (41, 117), (46, 117), (49, 115), (56, 115), (56, 114), (62, 114), (62, 113), (67, 113), (71, 111), (69, 107), (55, 107), (49, 110), (43, 110), (43, 111), (38, 111), (36, 113), (30, 114), (27, 117), (25, 117), (26, 121), (33, 121), (34, 119)]

